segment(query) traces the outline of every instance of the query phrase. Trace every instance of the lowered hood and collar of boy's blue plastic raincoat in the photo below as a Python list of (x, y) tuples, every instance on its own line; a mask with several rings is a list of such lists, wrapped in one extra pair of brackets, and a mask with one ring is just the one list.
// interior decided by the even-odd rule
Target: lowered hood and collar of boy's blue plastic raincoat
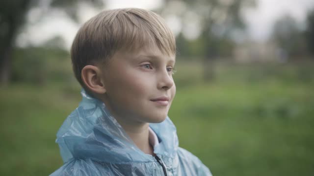
[[(56, 142), (64, 162), (72, 158), (91, 158), (101, 162), (147, 162), (152, 155), (136, 147), (105, 104), (81, 91), (82, 101), (64, 121), (57, 132)], [(159, 145), (154, 153), (163, 157), (175, 157), (178, 150), (176, 127), (169, 117), (161, 123), (150, 124)]]

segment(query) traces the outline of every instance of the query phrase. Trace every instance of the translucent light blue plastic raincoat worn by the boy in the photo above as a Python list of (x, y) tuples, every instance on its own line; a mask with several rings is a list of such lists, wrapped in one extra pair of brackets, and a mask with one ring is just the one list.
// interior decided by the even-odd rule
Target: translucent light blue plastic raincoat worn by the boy
[(64, 165), (51, 176), (211, 176), (196, 156), (179, 147), (169, 117), (150, 124), (159, 141), (156, 158), (136, 147), (103, 102), (84, 90), (81, 94), (82, 102), (57, 132)]

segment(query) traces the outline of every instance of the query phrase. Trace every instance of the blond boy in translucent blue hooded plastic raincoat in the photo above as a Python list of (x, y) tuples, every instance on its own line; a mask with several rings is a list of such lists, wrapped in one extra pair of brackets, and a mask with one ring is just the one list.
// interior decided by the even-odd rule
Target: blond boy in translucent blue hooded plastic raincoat
[(57, 133), (65, 163), (51, 176), (211, 176), (178, 147), (167, 117), (175, 53), (151, 11), (115, 9), (85, 22), (71, 48), (83, 100)]

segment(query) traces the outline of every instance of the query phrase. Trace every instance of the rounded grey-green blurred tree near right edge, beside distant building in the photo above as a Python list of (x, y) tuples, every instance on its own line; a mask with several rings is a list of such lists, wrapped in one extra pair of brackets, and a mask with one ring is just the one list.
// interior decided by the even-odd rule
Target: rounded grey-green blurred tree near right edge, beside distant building
[(273, 26), (271, 40), (278, 44), (288, 59), (300, 58), (306, 53), (306, 42), (300, 26), (289, 15), (280, 18)]

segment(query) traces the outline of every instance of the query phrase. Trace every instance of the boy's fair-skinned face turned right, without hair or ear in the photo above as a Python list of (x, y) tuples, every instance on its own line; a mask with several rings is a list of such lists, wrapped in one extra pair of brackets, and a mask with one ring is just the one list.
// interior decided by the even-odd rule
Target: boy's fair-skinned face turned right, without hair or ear
[(162, 122), (176, 93), (175, 56), (154, 44), (136, 52), (119, 51), (101, 68), (106, 107), (124, 124)]

